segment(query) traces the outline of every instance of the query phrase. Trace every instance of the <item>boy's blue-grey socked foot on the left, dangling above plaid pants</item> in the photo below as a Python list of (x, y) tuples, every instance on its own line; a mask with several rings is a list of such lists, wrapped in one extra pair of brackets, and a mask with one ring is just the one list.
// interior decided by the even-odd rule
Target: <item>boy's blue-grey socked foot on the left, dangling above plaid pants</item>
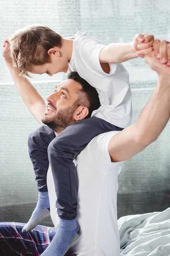
[(37, 206), (28, 223), (23, 227), (22, 233), (26, 233), (36, 227), (40, 221), (50, 215), (50, 201), (47, 192), (39, 192)]

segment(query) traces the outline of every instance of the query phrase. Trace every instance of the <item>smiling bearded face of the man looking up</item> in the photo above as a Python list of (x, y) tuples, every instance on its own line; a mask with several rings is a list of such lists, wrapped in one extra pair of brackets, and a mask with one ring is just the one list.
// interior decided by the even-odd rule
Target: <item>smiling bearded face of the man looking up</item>
[(79, 106), (77, 91), (81, 89), (81, 84), (72, 79), (56, 86), (55, 92), (47, 97), (48, 104), (41, 121), (57, 133), (73, 124), (74, 112)]

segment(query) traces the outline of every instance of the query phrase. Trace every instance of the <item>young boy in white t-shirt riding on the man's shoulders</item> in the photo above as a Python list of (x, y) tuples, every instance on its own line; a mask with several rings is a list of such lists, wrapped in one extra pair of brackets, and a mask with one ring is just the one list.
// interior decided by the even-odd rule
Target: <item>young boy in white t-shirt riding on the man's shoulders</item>
[[(140, 42), (143, 42), (142, 48), (138, 46)], [(55, 240), (63, 241), (59, 245), (51, 243), (50, 247), (55, 255), (62, 256), (80, 233), (76, 222), (78, 184), (74, 157), (98, 134), (121, 131), (130, 125), (131, 91), (128, 73), (121, 62), (136, 58), (136, 50), (139, 49), (142, 49), (141, 57), (152, 52), (153, 36), (136, 35), (131, 43), (105, 46), (82, 32), (66, 39), (46, 26), (33, 25), (11, 36), (9, 43), (13, 65), (21, 76), (29, 76), (29, 73), (48, 73), (52, 76), (68, 70), (77, 71), (99, 93), (101, 106), (93, 111), (92, 117), (77, 122), (74, 129), (70, 125), (61, 133), (56, 128), (59, 135), (55, 137), (54, 131), (41, 126), (28, 140), (30, 158), (38, 182), (39, 201), (23, 232), (33, 229), (42, 218), (49, 215), (46, 186), (49, 159), (60, 218)], [(63, 100), (67, 100), (67, 96), (62, 96)], [(57, 109), (52, 104), (45, 111), (49, 118), (55, 118), (56, 113)], [(44, 252), (43, 255), (48, 254)]]

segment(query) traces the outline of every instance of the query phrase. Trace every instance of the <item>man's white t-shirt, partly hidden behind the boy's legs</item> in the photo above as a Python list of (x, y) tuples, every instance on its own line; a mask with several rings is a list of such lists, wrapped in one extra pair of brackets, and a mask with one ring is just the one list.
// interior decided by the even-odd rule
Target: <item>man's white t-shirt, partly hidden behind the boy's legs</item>
[[(81, 234), (71, 247), (76, 256), (120, 255), (116, 202), (117, 178), (123, 162), (111, 163), (108, 153), (108, 143), (118, 132), (99, 134), (74, 160), (79, 183), (77, 221), (81, 227)], [(57, 227), (57, 196), (50, 166), (47, 186), (51, 219)]]

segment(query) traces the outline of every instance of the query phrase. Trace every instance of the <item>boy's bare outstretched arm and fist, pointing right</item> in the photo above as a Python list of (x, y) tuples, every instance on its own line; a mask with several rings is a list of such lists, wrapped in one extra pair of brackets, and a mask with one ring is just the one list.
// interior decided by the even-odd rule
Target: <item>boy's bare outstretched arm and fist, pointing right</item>
[[(130, 43), (112, 43), (104, 47), (99, 53), (99, 61), (101, 63), (122, 63), (138, 56), (142, 57), (152, 52), (153, 35), (137, 34)], [(138, 44), (143, 44), (143, 49), (140, 50)]]

